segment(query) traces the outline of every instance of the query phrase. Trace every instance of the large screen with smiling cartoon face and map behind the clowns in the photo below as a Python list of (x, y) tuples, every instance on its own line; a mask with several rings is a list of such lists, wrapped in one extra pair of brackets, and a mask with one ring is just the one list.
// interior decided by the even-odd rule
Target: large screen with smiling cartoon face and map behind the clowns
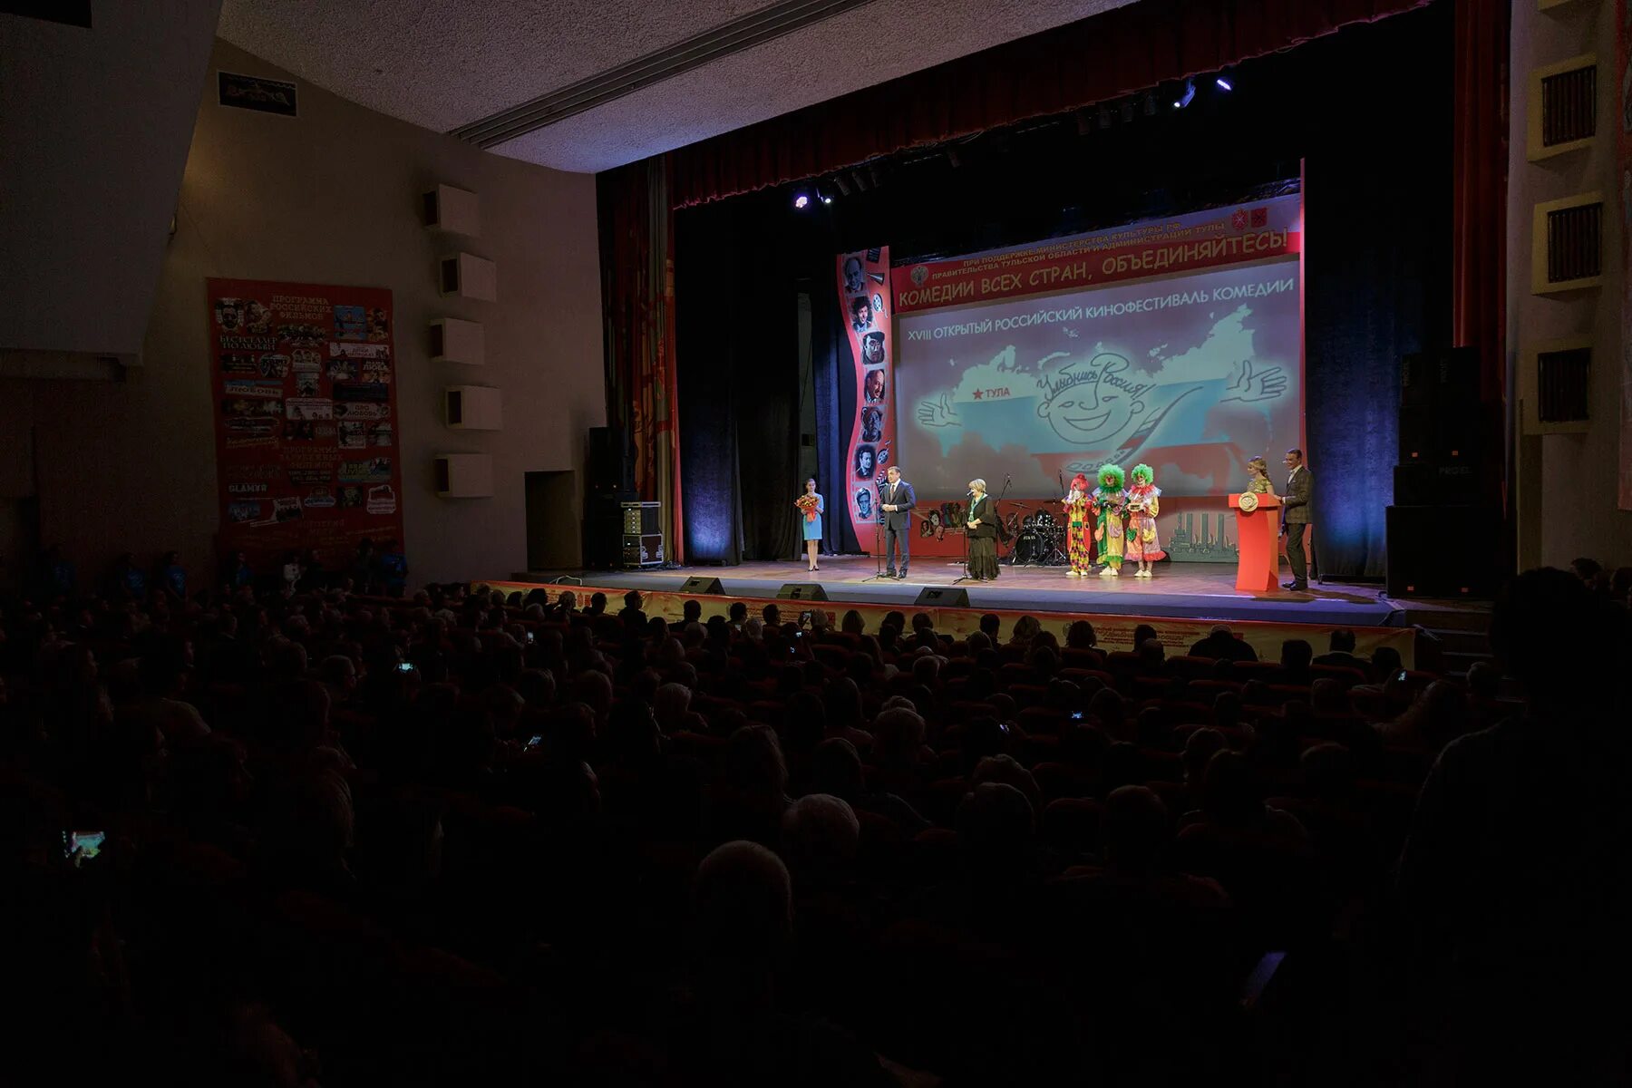
[[(1159, 240), (1133, 250), (1144, 254), (1133, 269), (1154, 276), (1103, 282), (1128, 271), (1126, 259), (1118, 266), (1113, 256), (1126, 246), (1093, 250), (1089, 235), (1074, 243), (1087, 243), (1080, 266), (1093, 269), (1095, 282), (1075, 290), (906, 313), (898, 303), (894, 463), (925, 499), (961, 496), (974, 476), (994, 481), (994, 491), (1012, 478), (1010, 494), (1053, 496), (1061, 480), (1077, 471), (1092, 478), (1106, 460), (1123, 468), (1149, 463), (1169, 496), (1216, 496), (1245, 483), (1245, 462), (1255, 455), (1276, 467), (1283, 450), (1302, 445), (1299, 199), (1142, 225)], [(1291, 237), (1268, 258), (1216, 233), (1232, 223), (1250, 233), (1266, 220)], [(1198, 230), (1200, 250), (1183, 241)], [(1180, 241), (1160, 241), (1172, 237)], [(1240, 259), (1183, 268), (1196, 253)], [(1028, 258), (1010, 253), (1000, 264), (1025, 271)], [(914, 282), (925, 279), (909, 272)], [(1022, 290), (1058, 279), (1015, 276)]]

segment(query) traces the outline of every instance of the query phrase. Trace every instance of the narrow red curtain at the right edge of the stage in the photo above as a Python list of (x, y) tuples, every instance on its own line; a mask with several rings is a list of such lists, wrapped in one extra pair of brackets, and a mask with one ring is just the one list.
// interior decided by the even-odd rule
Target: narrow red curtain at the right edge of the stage
[[(1452, 346), (1480, 354), (1480, 401), (1506, 400), (1508, 23), (1511, 8), (1456, 0)], [(1493, 434), (1495, 449), (1501, 447)]]

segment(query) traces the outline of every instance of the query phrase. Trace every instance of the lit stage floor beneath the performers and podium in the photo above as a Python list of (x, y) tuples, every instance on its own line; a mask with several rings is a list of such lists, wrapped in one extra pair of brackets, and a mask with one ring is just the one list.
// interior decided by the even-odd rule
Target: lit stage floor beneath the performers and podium
[[(829, 600), (907, 607), (919, 590), (951, 586), (960, 563), (942, 556), (912, 564), (907, 581), (875, 579), (871, 556), (824, 556), (821, 571), (803, 563), (743, 563), (741, 566), (682, 566), (646, 571), (566, 571), (584, 584), (674, 592), (687, 577), (718, 577), (733, 597), (775, 597), (785, 582), (821, 584)], [(1036, 612), (1093, 612), (1172, 617), (1186, 620), (1266, 620), (1327, 626), (1404, 626), (1404, 605), (1376, 586), (1310, 584), (1309, 592), (1245, 594), (1235, 590), (1232, 563), (1162, 563), (1154, 577), (1067, 577), (1062, 566), (1002, 569), (996, 582), (965, 581), (971, 608)], [(550, 581), (563, 571), (529, 571), (517, 581)]]

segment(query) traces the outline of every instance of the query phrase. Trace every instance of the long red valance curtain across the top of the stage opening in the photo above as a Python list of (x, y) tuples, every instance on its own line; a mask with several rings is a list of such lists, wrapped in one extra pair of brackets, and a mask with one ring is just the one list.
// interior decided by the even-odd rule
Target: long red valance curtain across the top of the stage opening
[[(1139, 0), (669, 153), (674, 206), (1087, 106), (1428, 0)], [(1505, 7), (1479, 0), (1467, 7)], [(1387, 65), (1387, 57), (1377, 59)], [(1382, 75), (1379, 72), (1379, 75)]]

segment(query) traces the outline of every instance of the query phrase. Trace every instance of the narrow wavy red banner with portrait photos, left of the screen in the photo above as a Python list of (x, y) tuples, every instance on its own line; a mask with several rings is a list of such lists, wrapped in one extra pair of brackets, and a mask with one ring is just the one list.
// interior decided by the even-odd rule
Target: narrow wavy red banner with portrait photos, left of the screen
[(850, 419), (844, 486), (827, 488), (827, 512), (837, 517), (837, 502), (842, 501), (857, 542), (871, 551), (881, 517), (878, 484), (889, 470), (896, 440), (889, 246), (840, 253), (834, 271), (839, 276), (839, 316), (849, 329), (850, 357), (855, 359), (855, 418)]

